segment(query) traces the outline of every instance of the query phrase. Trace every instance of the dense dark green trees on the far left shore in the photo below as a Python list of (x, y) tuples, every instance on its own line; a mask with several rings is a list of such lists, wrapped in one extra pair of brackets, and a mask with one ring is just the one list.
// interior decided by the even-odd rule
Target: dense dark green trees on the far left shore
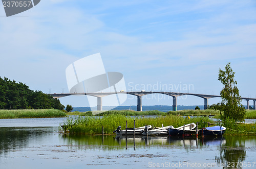
[(58, 99), (43, 93), (30, 90), (26, 84), (16, 83), (0, 77), (0, 109), (59, 109), (63, 106)]

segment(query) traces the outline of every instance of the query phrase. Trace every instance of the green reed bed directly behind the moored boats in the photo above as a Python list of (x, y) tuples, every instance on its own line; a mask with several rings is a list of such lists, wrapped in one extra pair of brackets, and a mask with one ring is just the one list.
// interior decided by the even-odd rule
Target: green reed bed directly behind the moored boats
[(212, 123), (208, 117), (194, 117), (184, 118), (176, 115), (166, 115), (157, 117), (146, 116), (125, 116), (122, 114), (110, 114), (102, 117), (95, 116), (76, 116), (68, 117), (65, 122), (61, 124), (62, 130), (69, 131), (72, 134), (100, 134), (102, 133), (102, 126), (104, 133), (113, 134), (113, 131), (122, 126), (125, 129), (125, 122), (127, 120), (127, 127), (134, 127), (134, 120), (136, 120), (136, 127), (145, 125), (154, 125), (154, 127), (174, 126), (175, 128), (183, 126), (184, 124), (199, 122), (199, 128), (206, 127), (206, 123)]

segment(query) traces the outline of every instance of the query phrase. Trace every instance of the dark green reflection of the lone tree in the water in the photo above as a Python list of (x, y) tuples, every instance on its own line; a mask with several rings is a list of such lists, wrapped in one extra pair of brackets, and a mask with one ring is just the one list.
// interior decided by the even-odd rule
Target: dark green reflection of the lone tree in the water
[[(240, 162), (245, 160), (246, 151), (245, 151), (245, 139), (243, 137), (235, 137), (235, 136), (226, 136), (226, 144), (222, 145), (220, 148), (220, 157), (215, 157), (216, 162), (218, 164), (225, 164), (224, 168), (226, 168), (226, 164), (230, 164), (229, 167), (232, 168), (232, 164), (234, 167), (241, 168), (239, 166)], [(232, 163), (233, 162), (233, 163)], [(238, 164), (238, 166), (237, 166)]]

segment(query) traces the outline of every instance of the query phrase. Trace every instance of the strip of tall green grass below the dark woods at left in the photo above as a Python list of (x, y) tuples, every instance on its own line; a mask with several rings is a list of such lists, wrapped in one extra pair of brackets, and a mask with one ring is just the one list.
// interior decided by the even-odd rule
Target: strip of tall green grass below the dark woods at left
[(0, 118), (46, 118), (65, 116), (65, 112), (57, 109), (0, 110)]

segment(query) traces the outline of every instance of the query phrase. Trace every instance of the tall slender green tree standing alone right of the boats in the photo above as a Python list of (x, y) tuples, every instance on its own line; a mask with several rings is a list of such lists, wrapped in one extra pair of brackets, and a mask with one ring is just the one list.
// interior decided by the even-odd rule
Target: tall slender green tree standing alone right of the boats
[(221, 90), (222, 101), (218, 105), (220, 106), (220, 118), (226, 122), (243, 122), (245, 109), (241, 104), (241, 96), (237, 88), (237, 81), (234, 80), (234, 72), (230, 67), (230, 62), (226, 64), (225, 70), (219, 69), (218, 80), (224, 85)]

